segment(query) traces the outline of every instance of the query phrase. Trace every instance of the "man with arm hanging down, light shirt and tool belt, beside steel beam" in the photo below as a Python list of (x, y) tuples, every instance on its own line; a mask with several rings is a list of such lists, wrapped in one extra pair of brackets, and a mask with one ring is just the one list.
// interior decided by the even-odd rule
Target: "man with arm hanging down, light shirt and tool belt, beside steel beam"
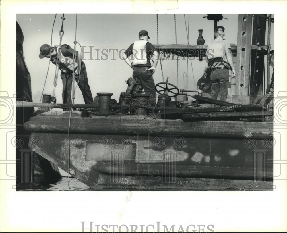
[(232, 77), (235, 76), (233, 56), (230, 51), (230, 44), (224, 37), (224, 27), (218, 26), (214, 32), (215, 40), (211, 41), (206, 50), (208, 59), (211, 84), (211, 98), (217, 99), (220, 93), (220, 100), (226, 101), (229, 83), (229, 70), (232, 70)]

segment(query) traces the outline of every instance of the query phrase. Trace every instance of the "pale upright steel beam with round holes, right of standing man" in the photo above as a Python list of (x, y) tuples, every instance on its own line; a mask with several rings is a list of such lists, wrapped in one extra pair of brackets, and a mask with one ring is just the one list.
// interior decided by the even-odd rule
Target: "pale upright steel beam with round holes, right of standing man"
[(237, 32), (236, 94), (249, 95), (252, 14), (239, 14)]

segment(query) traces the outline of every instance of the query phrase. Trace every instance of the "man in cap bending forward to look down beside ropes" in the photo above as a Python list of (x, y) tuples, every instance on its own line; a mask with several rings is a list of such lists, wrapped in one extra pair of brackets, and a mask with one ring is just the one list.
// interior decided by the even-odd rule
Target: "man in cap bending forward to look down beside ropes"
[[(88, 76), (86, 71), (86, 66), (83, 61), (79, 59), (78, 52), (75, 51), (75, 61), (73, 61), (74, 50), (69, 45), (61, 46), (60, 61), (57, 61), (57, 51), (59, 46), (55, 45), (51, 47), (50, 45), (44, 44), (40, 47), (39, 58), (50, 58), (53, 64), (59, 64), (59, 69), (61, 70), (61, 79), (63, 81), (63, 103), (72, 103), (71, 91), (72, 91), (72, 79), (73, 70), (75, 70), (75, 86), (77, 85), (82, 92), (85, 104), (92, 104), (93, 97), (88, 84)], [(78, 64), (81, 63), (81, 67)], [(80, 75), (79, 75), (80, 74)], [(65, 110), (65, 109), (64, 109)]]

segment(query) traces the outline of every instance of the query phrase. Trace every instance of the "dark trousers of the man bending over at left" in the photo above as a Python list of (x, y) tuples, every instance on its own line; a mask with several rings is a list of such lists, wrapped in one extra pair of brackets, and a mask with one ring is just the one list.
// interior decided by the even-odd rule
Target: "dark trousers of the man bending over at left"
[[(71, 91), (72, 91), (72, 81), (73, 81), (73, 74), (71, 72), (69, 73), (61, 73), (61, 79), (63, 82), (63, 103), (72, 103), (72, 97), (71, 97)], [(79, 75), (75, 75), (75, 87), (77, 85), (77, 82), (79, 80)], [(93, 103), (93, 97), (90, 90), (90, 86), (88, 84), (88, 77), (87, 77), (87, 71), (85, 67), (81, 68), (80, 72), (80, 81), (78, 84), (78, 88), (80, 88), (84, 102), (85, 104), (92, 104)]]

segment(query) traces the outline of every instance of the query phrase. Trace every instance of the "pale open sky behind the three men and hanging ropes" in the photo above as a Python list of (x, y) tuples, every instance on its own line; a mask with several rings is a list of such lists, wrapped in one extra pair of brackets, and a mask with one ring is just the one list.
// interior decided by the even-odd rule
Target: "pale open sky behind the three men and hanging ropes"
[[(205, 44), (213, 39), (214, 21), (202, 18), (207, 14), (190, 14), (189, 19), (189, 44), (196, 44), (199, 36), (198, 29), (203, 29)], [(53, 45), (59, 44), (59, 30), (62, 24), (61, 16), (57, 14), (53, 30)], [(223, 14), (227, 19), (221, 20), (218, 25), (225, 27), (225, 37), (230, 43), (237, 44), (238, 14)], [(188, 14), (185, 14), (188, 26)], [(32, 97), (34, 102), (40, 100), (44, 80), (46, 77), (49, 59), (39, 59), (39, 48), (42, 44), (51, 43), (51, 32), (55, 14), (17, 14), (17, 22), (20, 24), (24, 34), (24, 55), (32, 79)], [(76, 14), (65, 14), (64, 35), (62, 44), (74, 47)], [(184, 14), (176, 14), (177, 18), (177, 44), (187, 44), (187, 34)], [(125, 80), (132, 75), (132, 70), (119, 58), (119, 53), (109, 53), (104, 49), (127, 49), (131, 43), (138, 39), (140, 30), (147, 30), (150, 36), (149, 41), (156, 45), (156, 14), (78, 14), (76, 40), (85, 47), (85, 52), (90, 52), (89, 46), (93, 46), (93, 59), (90, 54), (85, 54), (86, 70), (93, 97), (97, 92), (112, 92), (112, 98), (119, 100), (119, 94), (127, 88)], [(158, 15), (159, 44), (175, 44), (174, 14)], [(273, 37), (272, 37), (273, 38)], [(273, 41), (272, 41), (273, 42)], [(80, 51), (79, 45), (77, 50)], [(100, 49), (98, 60), (96, 49)], [(101, 52), (108, 53), (108, 58)], [(169, 77), (168, 82), (177, 85), (177, 60), (166, 60), (162, 62), (164, 78)], [(188, 67), (187, 67), (188, 66)], [(203, 68), (206, 62), (197, 58), (187, 64), (187, 60), (179, 58), (179, 88), (186, 88), (183, 82), (184, 72), (188, 68), (188, 86), (194, 87), (197, 80), (203, 75)], [(44, 89), (44, 94), (53, 93), (53, 80), (55, 66), (50, 65), (49, 74)], [(271, 73), (272, 74), (272, 73)], [(154, 74), (155, 83), (162, 82), (160, 63)], [(62, 80), (60, 72), (56, 88), (57, 102), (62, 103)], [(82, 94), (77, 88), (75, 103), (84, 103)]]

